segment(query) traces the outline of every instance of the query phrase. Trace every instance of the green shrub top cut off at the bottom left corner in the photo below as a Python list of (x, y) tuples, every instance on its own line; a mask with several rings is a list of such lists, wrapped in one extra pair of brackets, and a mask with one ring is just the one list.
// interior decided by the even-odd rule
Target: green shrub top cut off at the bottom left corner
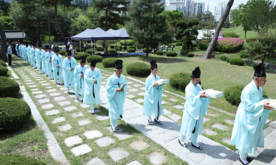
[(0, 155), (1, 164), (28, 164), (28, 165), (46, 165), (39, 159), (28, 157), (26, 155), (6, 154)]

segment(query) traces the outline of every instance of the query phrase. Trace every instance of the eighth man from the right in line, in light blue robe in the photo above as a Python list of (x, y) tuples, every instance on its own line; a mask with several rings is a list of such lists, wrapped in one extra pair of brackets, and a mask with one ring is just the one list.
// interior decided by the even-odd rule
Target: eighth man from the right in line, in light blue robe
[[(62, 69), (62, 56), (59, 54), (59, 47), (55, 49), (55, 55), (52, 56), (52, 75), (56, 84), (62, 85), (63, 69)], [(59, 80), (59, 83), (57, 83)]]

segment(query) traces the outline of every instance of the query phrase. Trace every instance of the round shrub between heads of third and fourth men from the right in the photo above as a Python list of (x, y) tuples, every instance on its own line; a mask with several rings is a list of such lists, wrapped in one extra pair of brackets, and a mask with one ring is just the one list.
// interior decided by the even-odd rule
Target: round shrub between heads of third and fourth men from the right
[(126, 67), (126, 72), (131, 76), (147, 77), (150, 75), (150, 65), (146, 63), (131, 63)]

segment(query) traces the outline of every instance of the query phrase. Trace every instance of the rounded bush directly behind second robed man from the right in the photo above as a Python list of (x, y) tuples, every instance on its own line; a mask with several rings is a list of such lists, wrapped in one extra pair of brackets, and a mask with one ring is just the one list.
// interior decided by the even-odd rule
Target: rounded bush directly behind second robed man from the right
[(175, 89), (185, 91), (186, 86), (190, 83), (190, 74), (179, 72), (170, 75), (170, 86)]

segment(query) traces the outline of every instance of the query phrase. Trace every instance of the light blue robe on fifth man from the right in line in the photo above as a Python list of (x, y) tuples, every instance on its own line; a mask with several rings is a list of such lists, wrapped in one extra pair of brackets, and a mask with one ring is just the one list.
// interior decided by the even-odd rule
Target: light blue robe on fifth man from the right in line
[[(94, 81), (97, 80), (97, 84)], [(101, 72), (97, 67), (92, 71), (90, 67), (84, 73), (84, 104), (100, 104), (99, 90), (101, 89)], [(93, 96), (93, 88), (95, 98)]]

